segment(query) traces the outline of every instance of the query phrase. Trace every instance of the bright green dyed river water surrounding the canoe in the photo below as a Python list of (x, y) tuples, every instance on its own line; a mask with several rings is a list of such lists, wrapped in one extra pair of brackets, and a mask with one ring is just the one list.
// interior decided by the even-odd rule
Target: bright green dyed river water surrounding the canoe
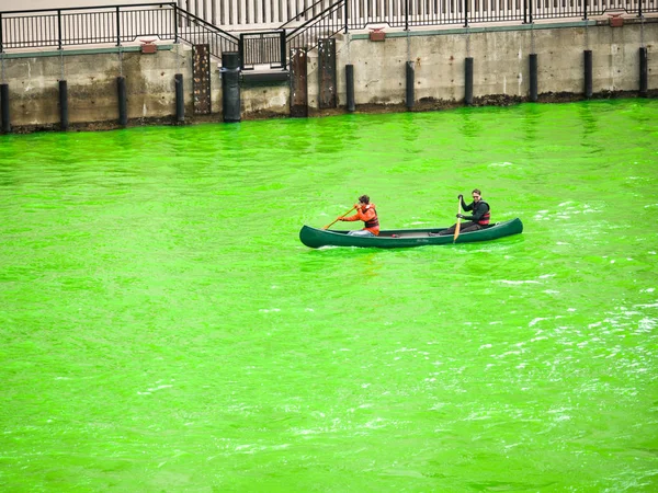
[[(0, 136), (2, 491), (656, 491), (657, 117)], [(474, 187), (523, 234), (298, 240), (364, 193), (450, 226)]]

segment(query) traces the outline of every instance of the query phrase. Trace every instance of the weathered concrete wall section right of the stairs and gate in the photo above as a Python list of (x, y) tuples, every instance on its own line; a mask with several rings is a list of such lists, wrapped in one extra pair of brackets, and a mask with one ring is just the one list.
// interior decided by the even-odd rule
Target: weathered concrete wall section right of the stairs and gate
[[(383, 43), (365, 36), (352, 38), (350, 48), (339, 53), (339, 67), (344, 79), (348, 58), (354, 64), (358, 107), (402, 104), (407, 59), (415, 65), (416, 101), (432, 101), (439, 107), (463, 102), (464, 60), (468, 56), (474, 58), (476, 100), (526, 100), (527, 60), (533, 50), (538, 58), (541, 96), (572, 94), (577, 99), (582, 94), (585, 49), (593, 51), (595, 93), (637, 91), (639, 87), (639, 24), (455, 31), (429, 36), (394, 33)], [(645, 24), (644, 39), (649, 50), (649, 88), (655, 90), (658, 57), (650, 54), (658, 42), (658, 24)], [(344, 88), (341, 94), (344, 104)]]

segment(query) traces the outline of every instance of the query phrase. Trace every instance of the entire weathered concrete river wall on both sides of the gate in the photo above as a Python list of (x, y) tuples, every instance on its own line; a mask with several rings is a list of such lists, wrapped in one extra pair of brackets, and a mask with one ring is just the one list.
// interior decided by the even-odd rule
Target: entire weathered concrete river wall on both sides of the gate
[[(583, 98), (583, 50), (592, 50), (595, 98), (636, 95), (639, 89), (639, 47), (648, 50), (648, 88), (658, 95), (658, 19), (644, 26), (627, 21), (623, 27), (577, 22), (513, 27), (451, 28), (433, 32), (387, 33), (385, 42), (367, 34), (350, 34), (337, 42), (338, 110), (318, 110), (318, 57), (308, 56), (309, 114), (344, 112), (344, 67), (354, 65), (358, 111), (406, 111), (405, 65), (415, 67), (415, 111), (464, 104), (464, 60), (474, 59), (474, 104), (526, 101), (530, 92), (529, 55), (537, 54), (540, 101)], [(128, 124), (175, 124), (174, 74), (183, 73), (185, 122), (222, 121), (222, 79), (212, 61), (212, 114), (193, 114), (192, 48), (161, 45), (158, 53), (137, 47), (7, 54), (2, 80), (9, 83), (13, 131), (58, 128), (58, 83), (69, 88), (71, 128), (113, 128), (118, 125), (116, 78), (126, 78)], [(290, 85), (243, 83), (242, 118), (290, 115)]]

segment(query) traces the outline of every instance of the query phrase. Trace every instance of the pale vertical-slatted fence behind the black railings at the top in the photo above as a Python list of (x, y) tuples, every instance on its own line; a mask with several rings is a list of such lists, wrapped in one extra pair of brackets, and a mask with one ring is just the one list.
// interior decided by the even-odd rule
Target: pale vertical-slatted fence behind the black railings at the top
[[(224, 30), (279, 28), (310, 21), (336, 0), (178, 0), (179, 7)], [(566, 19), (602, 15), (609, 11), (658, 12), (658, 0), (348, 0), (350, 28), (368, 24), (392, 27), (531, 22), (530, 18)], [(336, 12), (338, 20), (341, 12)]]

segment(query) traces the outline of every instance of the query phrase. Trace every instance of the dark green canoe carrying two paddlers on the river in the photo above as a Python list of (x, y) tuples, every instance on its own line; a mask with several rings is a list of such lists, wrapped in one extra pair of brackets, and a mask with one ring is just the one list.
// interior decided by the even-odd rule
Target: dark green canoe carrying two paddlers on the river
[[(363, 246), (376, 249), (400, 249), (409, 246), (423, 246), (428, 244), (451, 244), (453, 236), (430, 236), (447, 228), (430, 229), (390, 229), (379, 231), (378, 237), (351, 237), (349, 231), (336, 231), (333, 229), (316, 229), (304, 226), (299, 231), (299, 240), (306, 246), (318, 249), (320, 246)], [(460, 234), (457, 243), (469, 243), (473, 241), (489, 241), (498, 238), (518, 234), (523, 231), (521, 219), (496, 222), (478, 231)]]

